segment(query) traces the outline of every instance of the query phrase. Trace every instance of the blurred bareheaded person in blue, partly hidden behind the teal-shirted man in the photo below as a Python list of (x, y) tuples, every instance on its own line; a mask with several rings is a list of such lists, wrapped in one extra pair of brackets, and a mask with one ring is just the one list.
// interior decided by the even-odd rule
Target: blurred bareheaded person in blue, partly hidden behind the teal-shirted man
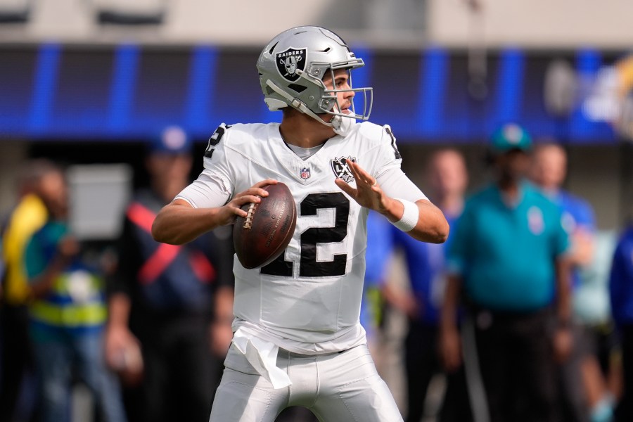
[[(580, 269), (592, 264), (596, 223), (594, 210), (586, 200), (565, 191), (567, 154), (556, 143), (541, 143), (532, 155), (530, 177), (563, 213), (563, 229), (570, 236), (570, 263), (573, 291), (580, 289)], [(579, 309), (590, 312), (589, 309)], [(610, 394), (594, 354), (589, 327), (580, 316), (572, 320), (574, 345), (570, 359), (561, 366), (561, 398), (565, 421), (608, 421), (612, 416)]]

